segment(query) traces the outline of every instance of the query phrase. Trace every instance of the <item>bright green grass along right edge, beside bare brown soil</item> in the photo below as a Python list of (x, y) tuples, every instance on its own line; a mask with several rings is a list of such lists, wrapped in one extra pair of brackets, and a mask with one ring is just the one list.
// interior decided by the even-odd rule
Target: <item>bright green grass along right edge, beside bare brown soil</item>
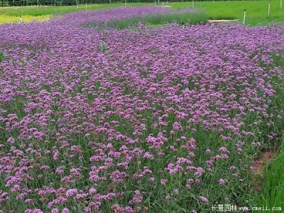
[[(273, 61), (275, 67), (280, 67), (283, 69), (284, 60), (282, 57), (273, 55)], [(275, 82), (273, 89), (277, 94), (277, 98), (273, 100), (273, 104), (277, 106), (278, 109), (283, 109), (284, 107), (284, 90), (283, 90), (283, 79), (278, 79), (277, 77), (273, 77), (273, 82)], [(282, 117), (284, 116), (282, 112)], [(283, 121), (279, 121), (274, 124), (274, 129), (278, 131), (280, 141), (271, 141), (271, 147), (279, 146), (278, 153), (273, 160), (269, 160), (263, 168), (264, 175), (260, 175), (261, 182), (265, 181), (265, 185), (261, 191), (261, 195), (256, 194), (253, 197), (254, 207), (258, 207), (259, 209), (254, 209), (253, 212), (267, 212), (267, 211), (277, 211), (283, 212), (284, 207), (284, 135), (281, 136), (281, 132), (283, 133)], [(268, 133), (266, 133), (268, 134)], [(267, 141), (268, 138), (265, 138)], [(280, 142), (280, 144), (279, 144)], [(282, 208), (282, 210), (279, 209)], [(266, 210), (270, 209), (270, 210)], [(278, 209), (277, 209), (278, 208)]]

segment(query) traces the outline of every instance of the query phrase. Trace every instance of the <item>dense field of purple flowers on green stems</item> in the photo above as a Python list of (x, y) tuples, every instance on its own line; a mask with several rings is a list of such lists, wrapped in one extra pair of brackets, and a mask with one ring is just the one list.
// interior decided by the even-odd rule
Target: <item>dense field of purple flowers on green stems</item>
[(284, 26), (0, 26), (0, 212), (210, 212), (253, 204), (283, 133)]

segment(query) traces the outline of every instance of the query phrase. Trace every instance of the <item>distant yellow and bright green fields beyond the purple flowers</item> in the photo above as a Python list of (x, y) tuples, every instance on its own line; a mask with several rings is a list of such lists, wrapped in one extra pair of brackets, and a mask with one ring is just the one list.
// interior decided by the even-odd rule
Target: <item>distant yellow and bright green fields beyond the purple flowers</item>
[[(124, 6), (125, 4), (89, 4), (87, 10), (107, 9), (116, 6)], [(127, 6), (142, 6), (149, 5), (146, 3), (129, 3)], [(152, 4), (154, 5), (154, 3)], [(157, 4), (162, 6), (162, 4)], [(169, 3), (172, 9), (192, 6), (190, 2)], [(258, 25), (283, 22), (284, 9), (280, 9), (280, 0), (271, 1), (271, 11), (268, 17), (268, 1), (205, 1), (195, 2), (194, 6), (204, 9), (209, 19), (239, 19), (242, 21), (244, 17), (244, 9), (246, 9), (246, 24)], [(0, 9), (0, 23), (19, 21), (19, 16), (23, 17), (23, 21), (31, 21), (33, 18), (38, 21), (44, 21), (50, 18), (50, 14), (67, 13), (78, 10), (85, 10), (85, 5), (77, 6), (40, 6), (37, 11), (36, 6), (26, 7), (6, 7)], [(29, 15), (29, 16), (28, 16)], [(13, 17), (11, 17), (13, 16)], [(15, 18), (16, 16), (16, 18)], [(42, 17), (33, 17), (42, 16)]]

